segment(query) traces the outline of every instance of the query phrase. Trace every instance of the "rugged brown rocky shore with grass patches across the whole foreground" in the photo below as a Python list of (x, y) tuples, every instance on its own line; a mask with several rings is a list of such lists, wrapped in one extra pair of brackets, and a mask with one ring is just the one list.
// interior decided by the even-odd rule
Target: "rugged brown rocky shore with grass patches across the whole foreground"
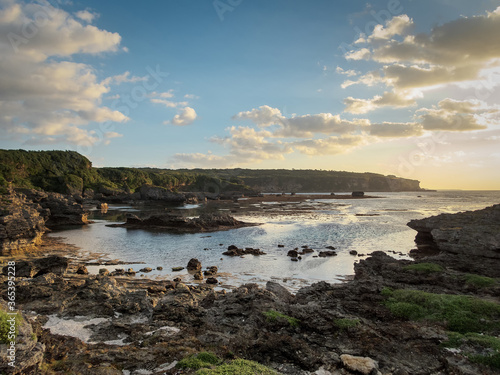
[[(374, 252), (355, 265), (354, 280), (296, 294), (276, 282), (227, 292), (208, 282), (213, 267), (205, 283), (188, 285), (80, 274), (80, 261), (63, 256), (17, 260), (23, 319), (13, 373), (194, 374), (188, 359), (203, 352), (218, 359), (212, 367), (243, 358), (289, 375), (498, 373), (500, 267), (491, 253), (499, 207), (412, 222), (436, 255)], [(468, 247), (484, 223), (487, 241)], [(201, 269), (196, 263), (193, 275)], [(6, 296), (8, 277), (0, 281)], [(0, 372), (10, 371), (7, 346), (0, 351)]]

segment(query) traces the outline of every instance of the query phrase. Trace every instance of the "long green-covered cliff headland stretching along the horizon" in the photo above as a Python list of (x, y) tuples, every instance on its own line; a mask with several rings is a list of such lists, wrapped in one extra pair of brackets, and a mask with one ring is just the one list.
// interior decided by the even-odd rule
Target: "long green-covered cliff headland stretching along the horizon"
[(135, 192), (143, 185), (172, 191), (350, 192), (416, 191), (419, 182), (375, 173), (286, 169), (95, 168), (74, 151), (0, 150), (0, 190), (35, 188), (59, 193)]

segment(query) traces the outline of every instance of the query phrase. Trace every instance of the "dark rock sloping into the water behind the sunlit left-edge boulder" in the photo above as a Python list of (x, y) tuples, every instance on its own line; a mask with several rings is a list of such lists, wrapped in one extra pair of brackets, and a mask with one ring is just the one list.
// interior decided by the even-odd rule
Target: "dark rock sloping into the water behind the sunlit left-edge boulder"
[(49, 228), (89, 223), (87, 212), (72, 196), (33, 189), (16, 189), (16, 191), (43, 208), (41, 214), (45, 217), (45, 224)]

